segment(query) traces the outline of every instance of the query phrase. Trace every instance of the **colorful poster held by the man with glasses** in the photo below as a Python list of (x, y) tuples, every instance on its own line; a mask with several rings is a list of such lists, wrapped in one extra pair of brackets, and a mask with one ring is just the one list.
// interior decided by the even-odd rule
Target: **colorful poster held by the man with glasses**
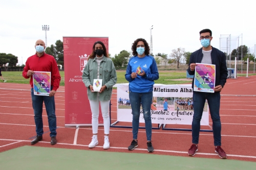
[(196, 63), (194, 91), (214, 93), (215, 65)]

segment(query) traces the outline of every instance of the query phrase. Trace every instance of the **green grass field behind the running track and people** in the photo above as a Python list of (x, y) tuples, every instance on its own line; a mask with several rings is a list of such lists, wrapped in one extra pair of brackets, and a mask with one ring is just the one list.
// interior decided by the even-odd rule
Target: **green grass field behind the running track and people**
[[(29, 84), (29, 79), (25, 79), (22, 76), (22, 71), (2, 71), (2, 75), (8, 83), (20, 83)], [(128, 83), (125, 80), (125, 71), (117, 71), (117, 83)], [(248, 74), (249, 76), (256, 74)], [(65, 74), (64, 71), (60, 71), (61, 81), (60, 86), (65, 85)], [(238, 76), (246, 76), (246, 74), (238, 74)], [(159, 71), (159, 79), (155, 81), (156, 84), (184, 84), (189, 81), (174, 80), (174, 79), (185, 79), (186, 71)], [(191, 79), (192, 81), (192, 79)], [(1, 81), (2, 83), (2, 81)]]

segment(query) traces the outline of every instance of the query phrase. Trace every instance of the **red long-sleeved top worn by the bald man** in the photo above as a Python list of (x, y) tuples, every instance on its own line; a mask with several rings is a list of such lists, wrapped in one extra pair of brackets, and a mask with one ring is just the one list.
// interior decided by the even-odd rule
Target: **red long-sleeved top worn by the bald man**
[(32, 71), (49, 71), (51, 72), (51, 86), (53, 90), (57, 91), (59, 88), (60, 75), (56, 60), (53, 56), (44, 53), (41, 57), (36, 54), (29, 57), (22, 72), (25, 79), (30, 78), (30, 85), (33, 88), (33, 76), (27, 76), (28, 70)]

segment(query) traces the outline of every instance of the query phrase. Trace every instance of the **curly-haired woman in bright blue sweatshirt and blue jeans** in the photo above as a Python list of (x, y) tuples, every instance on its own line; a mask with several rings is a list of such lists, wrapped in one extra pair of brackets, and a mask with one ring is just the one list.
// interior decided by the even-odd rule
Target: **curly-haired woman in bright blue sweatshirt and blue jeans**
[(129, 98), (133, 113), (133, 141), (128, 147), (134, 150), (138, 147), (137, 135), (139, 131), (140, 103), (145, 120), (147, 151), (153, 152), (151, 136), (151, 103), (153, 100), (154, 80), (159, 78), (155, 59), (150, 56), (150, 47), (145, 39), (139, 38), (132, 44), (133, 57), (127, 65), (125, 79), (129, 81)]

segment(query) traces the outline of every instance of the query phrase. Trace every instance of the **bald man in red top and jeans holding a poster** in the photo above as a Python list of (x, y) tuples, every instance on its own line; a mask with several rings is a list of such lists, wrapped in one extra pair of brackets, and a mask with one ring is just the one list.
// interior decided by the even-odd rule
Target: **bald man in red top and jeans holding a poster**
[[(37, 40), (35, 43), (36, 54), (29, 57), (26, 61), (26, 66), (23, 70), (23, 77), (25, 79), (30, 78), (32, 106), (34, 109), (34, 119), (36, 126), (36, 137), (31, 141), (31, 144), (35, 144), (42, 140), (42, 134), (44, 134), (42, 124), (42, 103), (45, 103), (46, 112), (48, 116), (49, 129), (51, 131), (51, 144), (56, 144), (56, 115), (55, 115), (55, 101), (54, 95), (59, 88), (60, 75), (56, 60), (53, 56), (45, 53), (45, 42)], [(34, 95), (33, 89), (33, 74), (34, 71), (48, 71), (51, 72), (51, 91), (49, 96)]]

